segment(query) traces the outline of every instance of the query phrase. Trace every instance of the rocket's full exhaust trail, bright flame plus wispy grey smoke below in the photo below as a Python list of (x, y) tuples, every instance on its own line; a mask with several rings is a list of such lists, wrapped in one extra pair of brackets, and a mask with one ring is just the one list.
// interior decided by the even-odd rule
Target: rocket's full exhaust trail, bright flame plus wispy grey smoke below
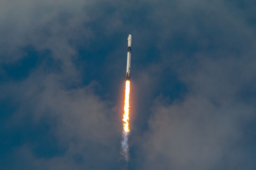
[(121, 154), (124, 155), (125, 160), (128, 162), (129, 160), (129, 146), (128, 146), (128, 135), (130, 132), (129, 129), (129, 97), (130, 97), (130, 81), (127, 80), (125, 82), (125, 97), (124, 97), (124, 131), (123, 131), (123, 141), (122, 141), (122, 152)]

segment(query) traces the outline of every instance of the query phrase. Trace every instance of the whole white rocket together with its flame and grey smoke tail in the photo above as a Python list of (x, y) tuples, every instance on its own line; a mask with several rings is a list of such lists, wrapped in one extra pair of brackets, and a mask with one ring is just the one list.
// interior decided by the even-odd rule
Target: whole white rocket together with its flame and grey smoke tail
[(132, 35), (128, 36), (128, 51), (127, 51), (127, 66), (126, 66), (126, 82), (125, 82), (125, 96), (124, 96), (124, 114), (123, 114), (123, 141), (122, 152), (125, 160), (129, 160), (129, 146), (128, 136), (130, 132), (129, 128), (129, 109), (130, 109), (130, 65), (131, 65), (131, 49), (132, 49)]

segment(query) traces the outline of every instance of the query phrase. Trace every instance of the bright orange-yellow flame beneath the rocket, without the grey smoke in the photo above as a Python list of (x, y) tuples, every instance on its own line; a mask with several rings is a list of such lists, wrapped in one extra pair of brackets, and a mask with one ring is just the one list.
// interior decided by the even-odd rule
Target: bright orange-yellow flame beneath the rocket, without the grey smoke
[(125, 82), (125, 97), (124, 97), (124, 131), (129, 132), (129, 97), (130, 97), (130, 81)]

